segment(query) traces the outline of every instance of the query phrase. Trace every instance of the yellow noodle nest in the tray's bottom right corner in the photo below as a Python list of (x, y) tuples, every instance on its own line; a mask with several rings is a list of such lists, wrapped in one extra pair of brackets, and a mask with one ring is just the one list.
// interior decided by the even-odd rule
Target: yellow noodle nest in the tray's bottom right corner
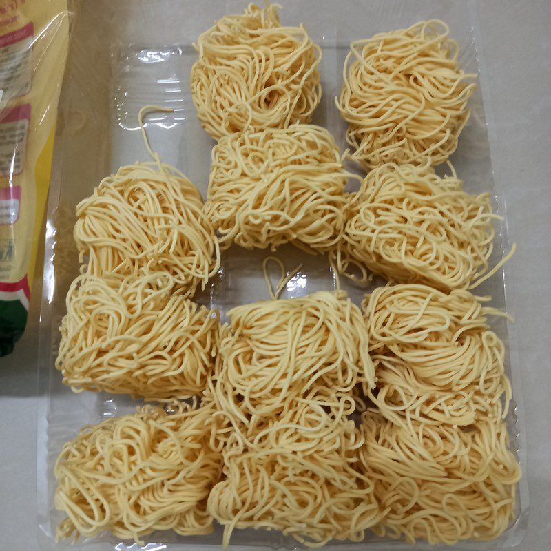
[(384, 518), (372, 530), (409, 543), (495, 539), (514, 519), (519, 464), (504, 423), (466, 428), (362, 415), (360, 464)]

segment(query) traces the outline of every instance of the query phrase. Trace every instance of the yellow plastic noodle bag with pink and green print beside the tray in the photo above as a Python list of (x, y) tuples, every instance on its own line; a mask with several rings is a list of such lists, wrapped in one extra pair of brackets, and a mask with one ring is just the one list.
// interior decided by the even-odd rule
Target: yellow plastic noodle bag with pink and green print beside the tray
[(67, 0), (0, 0), (0, 355), (27, 321), (68, 35)]

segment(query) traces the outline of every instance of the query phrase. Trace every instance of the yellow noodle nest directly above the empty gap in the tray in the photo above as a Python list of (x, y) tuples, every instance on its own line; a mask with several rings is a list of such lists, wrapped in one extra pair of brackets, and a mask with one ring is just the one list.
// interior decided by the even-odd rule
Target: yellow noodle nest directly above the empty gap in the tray
[(293, 242), (327, 251), (344, 228), (349, 176), (335, 139), (319, 126), (224, 136), (212, 150), (205, 214), (222, 248)]

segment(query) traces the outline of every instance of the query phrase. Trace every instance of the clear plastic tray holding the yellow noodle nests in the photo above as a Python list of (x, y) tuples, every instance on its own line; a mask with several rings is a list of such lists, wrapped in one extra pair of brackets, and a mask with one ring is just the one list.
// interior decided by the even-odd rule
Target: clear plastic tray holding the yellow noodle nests
[[(38, 517), (39, 540), (44, 549), (67, 547), (55, 543), (56, 525), (62, 518), (53, 508), (55, 479), (53, 466), (63, 443), (79, 429), (113, 415), (134, 411), (138, 402), (128, 397), (101, 393), (74, 394), (61, 383), (54, 368), (59, 344), (58, 327), (65, 313), (65, 294), (79, 271), (72, 242), (74, 207), (89, 195), (101, 178), (120, 165), (147, 160), (147, 152), (138, 132), (137, 116), (146, 104), (174, 107), (172, 114), (152, 114), (147, 132), (153, 148), (167, 163), (176, 165), (198, 186), (207, 191), (211, 147), (214, 141), (202, 130), (189, 92), (189, 73), (196, 53), (191, 44), (209, 28), (214, 19), (226, 13), (239, 13), (245, 1), (187, 0), (94, 0), (76, 3), (76, 17), (70, 49), (70, 61), (60, 103), (58, 135), (48, 207), (43, 299), (39, 349), (40, 399), (38, 430)], [(342, 65), (355, 39), (376, 32), (404, 28), (424, 19), (443, 19), (451, 36), (459, 42), (461, 64), (468, 72), (479, 74), (479, 87), (470, 98), (472, 114), (451, 158), (467, 191), (492, 195), (495, 210), (505, 215), (503, 194), (492, 178), (487, 122), (484, 106), (484, 55), (474, 3), (457, 0), (362, 1), (302, 0), (284, 2), (282, 23), (304, 22), (309, 34), (322, 47), (323, 98), (314, 123), (329, 128), (342, 149), (345, 124), (334, 105), (334, 96), (342, 84)], [(491, 118), (490, 118), (491, 123)], [(495, 253), (490, 262), (498, 262), (510, 243), (506, 222), (498, 225)], [(266, 299), (262, 259), (269, 251), (226, 251), (217, 278), (196, 300), (220, 309), (222, 316), (232, 306)], [(283, 296), (296, 297), (321, 289), (333, 289), (335, 278), (326, 258), (307, 256), (293, 247), (280, 248), (278, 255), (287, 269), (302, 262), (304, 267), (287, 284)], [(506, 278), (507, 267), (484, 283), (477, 293), (492, 295), (492, 304), (514, 315), (514, 291)], [(344, 278), (342, 287), (359, 303), (366, 289)], [(507, 284), (506, 284), (507, 283)], [(514, 324), (503, 318), (492, 326), (506, 344), (506, 366), (512, 380), (513, 402), (508, 416), (512, 448), (523, 470), (526, 457), (522, 430), (521, 385)], [(518, 488), (517, 519), (495, 541), (464, 541), (457, 550), (503, 549), (521, 541), (528, 514), (528, 484), (524, 476)], [(171, 532), (152, 534), (141, 548), (123, 543), (110, 535), (81, 541), (85, 550), (159, 550), (210, 549), (220, 545), (222, 529), (207, 537), (178, 537)], [(232, 548), (296, 548), (294, 539), (278, 532), (236, 530)], [(330, 543), (327, 549), (358, 548), (393, 550), (439, 549), (419, 542), (415, 546), (402, 541), (378, 539), (366, 534), (362, 543)], [(449, 549), (442, 546), (441, 548)]]

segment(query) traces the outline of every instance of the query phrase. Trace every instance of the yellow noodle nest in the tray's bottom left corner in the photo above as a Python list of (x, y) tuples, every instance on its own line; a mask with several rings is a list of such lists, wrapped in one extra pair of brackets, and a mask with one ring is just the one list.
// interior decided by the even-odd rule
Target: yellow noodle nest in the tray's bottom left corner
[(54, 503), (67, 518), (58, 539), (110, 530), (141, 539), (154, 530), (209, 534), (207, 497), (221, 475), (217, 424), (208, 406), (175, 404), (173, 413), (138, 413), (87, 426), (56, 461)]

